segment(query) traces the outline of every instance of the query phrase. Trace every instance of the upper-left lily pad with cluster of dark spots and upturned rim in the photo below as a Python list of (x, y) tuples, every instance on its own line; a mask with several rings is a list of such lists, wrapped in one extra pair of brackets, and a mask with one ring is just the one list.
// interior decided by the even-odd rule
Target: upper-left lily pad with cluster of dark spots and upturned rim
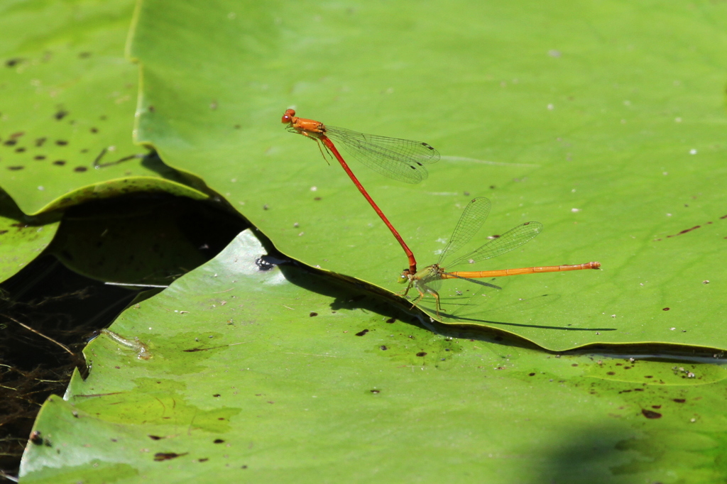
[(0, 187), (28, 214), (132, 191), (206, 198), (134, 145), (130, 0), (0, 5)]

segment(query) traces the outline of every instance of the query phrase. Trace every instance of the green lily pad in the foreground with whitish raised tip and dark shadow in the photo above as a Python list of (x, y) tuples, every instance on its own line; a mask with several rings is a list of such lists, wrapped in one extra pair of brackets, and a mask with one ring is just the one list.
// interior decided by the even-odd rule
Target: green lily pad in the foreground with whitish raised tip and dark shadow
[(89, 344), (90, 375), (44, 405), (21, 482), (727, 475), (723, 366), (431, 331), (316, 273), (259, 270), (263, 252), (241, 233)]

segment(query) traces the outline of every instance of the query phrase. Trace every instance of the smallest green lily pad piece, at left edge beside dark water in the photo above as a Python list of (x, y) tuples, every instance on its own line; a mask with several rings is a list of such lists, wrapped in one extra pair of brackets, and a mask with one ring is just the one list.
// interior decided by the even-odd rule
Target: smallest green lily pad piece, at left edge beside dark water
[(59, 222), (31, 222), (0, 190), (0, 282), (23, 269), (53, 240)]

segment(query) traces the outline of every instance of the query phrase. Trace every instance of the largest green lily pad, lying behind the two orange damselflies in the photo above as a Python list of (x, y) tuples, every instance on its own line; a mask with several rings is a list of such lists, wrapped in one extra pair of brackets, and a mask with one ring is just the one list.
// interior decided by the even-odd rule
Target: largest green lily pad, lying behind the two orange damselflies
[(142, 64), (137, 139), (203, 177), (284, 253), (390, 290), (403, 252), (340, 168), (278, 120), (295, 105), (300, 116), (430, 142), (443, 159), (418, 186), (353, 165), (420, 267), (475, 195), (494, 208), (473, 247), (521, 222), (545, 225), (478, 270), (603, 264), (501, 279), (502, 291), (457, 304), (456, 291), (478, 287), (447, 281), (445, 321), (551, 349), (724, 348), (727, 278), (715, 256), (727, 235), (726, 10), (142, 0), (130, 49)]

